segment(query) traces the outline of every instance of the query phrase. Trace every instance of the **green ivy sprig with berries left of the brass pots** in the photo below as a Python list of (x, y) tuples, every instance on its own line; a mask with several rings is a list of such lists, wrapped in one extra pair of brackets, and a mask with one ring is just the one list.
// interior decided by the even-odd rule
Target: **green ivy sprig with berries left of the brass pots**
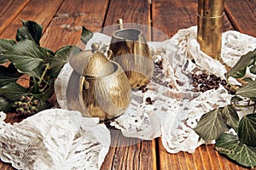
[[(48, 99), (54, 94), (54, 82), (63, 65), (69, 57), (81, 51), (80, 48), (69, 45), (58, 49), (55, 53), (40, 46), (43, 27), (34, 21), (22, 20), (22, 26), (17, 30), (16, 41), (0, 39), (0, 111), (26, 111), (34, 114), (49, 108)], [(21, 86), (17, 81), (28, 78), (29, 87)], [(38, 101), (29, 110), (30, 102), (24, 97)], [(23, 102), (24, 108), (20, 108)], [(20, 105), (18, 105), (20, 104)], [(19, 109), (19, 110), (18, 110)]]

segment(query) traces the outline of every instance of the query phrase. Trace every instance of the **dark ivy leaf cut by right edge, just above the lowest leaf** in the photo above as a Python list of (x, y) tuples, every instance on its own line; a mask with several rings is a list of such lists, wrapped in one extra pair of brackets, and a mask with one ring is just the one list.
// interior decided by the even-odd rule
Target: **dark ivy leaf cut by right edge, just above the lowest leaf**
[(241, 118), (238, 137), (241, 143), (256, 147), (256, 113)]

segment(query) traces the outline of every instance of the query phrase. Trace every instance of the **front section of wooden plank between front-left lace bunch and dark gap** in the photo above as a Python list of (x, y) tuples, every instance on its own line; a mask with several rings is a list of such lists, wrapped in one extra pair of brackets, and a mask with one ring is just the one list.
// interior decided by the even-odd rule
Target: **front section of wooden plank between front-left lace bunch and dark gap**
[[(112, 143), (101, 169), (154, 169), (151, 141), (126, 138), (119, 130), (111, 130)], [(154, 150), (155, 151), (155, 150)], [(145, 162), (145, 163), (143, 163)], [(146, 163), (147, 162), (147, 163)]]

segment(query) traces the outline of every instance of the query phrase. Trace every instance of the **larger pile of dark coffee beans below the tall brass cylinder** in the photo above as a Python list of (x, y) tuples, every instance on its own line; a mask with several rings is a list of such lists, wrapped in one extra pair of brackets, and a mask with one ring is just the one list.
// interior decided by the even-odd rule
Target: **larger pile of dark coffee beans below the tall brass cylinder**
[(230, 94), (234, 94), (234, 91), (230, 88), (227, 81), (214, 74), (207, 75), (205, 72), (201, 74), (193, 73), (190, 83), (193, 85), (193, 92), (206, 92), (207, 90), (218, 89), (219, 86), (222, 85), (230, 92)]

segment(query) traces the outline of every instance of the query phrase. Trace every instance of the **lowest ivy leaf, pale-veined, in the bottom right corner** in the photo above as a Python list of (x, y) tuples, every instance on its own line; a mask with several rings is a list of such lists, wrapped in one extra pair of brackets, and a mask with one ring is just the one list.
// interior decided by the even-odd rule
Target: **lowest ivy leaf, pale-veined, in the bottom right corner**
[(245, 167), (256, 166), (256, 148), (241, 144), (237, 136), (224, 133), (216, 140), (216, 150)]

